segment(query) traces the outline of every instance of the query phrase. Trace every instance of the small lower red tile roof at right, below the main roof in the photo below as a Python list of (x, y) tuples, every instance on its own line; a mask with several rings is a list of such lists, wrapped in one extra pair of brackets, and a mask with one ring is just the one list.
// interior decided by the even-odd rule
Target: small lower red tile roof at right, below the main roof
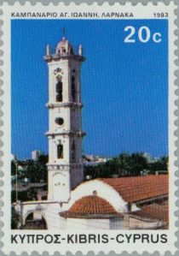
[(147, 217), (151, 219), (158, 219), (164, 221), (165, 223), (169, 223), (169, 205), (144, 205), (141, 207), (141, 211), (131, 212), (132, 215), (136, 215), (139, 217)]

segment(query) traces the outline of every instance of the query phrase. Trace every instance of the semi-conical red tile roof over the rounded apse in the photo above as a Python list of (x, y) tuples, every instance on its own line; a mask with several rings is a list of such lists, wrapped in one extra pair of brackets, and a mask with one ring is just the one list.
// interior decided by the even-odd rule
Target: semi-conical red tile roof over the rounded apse
[(113, 217), (120, 216), (107, 200), (96, 195), (84, 196), (78, 199), (68, 211), (60, 212), (62, 217)]

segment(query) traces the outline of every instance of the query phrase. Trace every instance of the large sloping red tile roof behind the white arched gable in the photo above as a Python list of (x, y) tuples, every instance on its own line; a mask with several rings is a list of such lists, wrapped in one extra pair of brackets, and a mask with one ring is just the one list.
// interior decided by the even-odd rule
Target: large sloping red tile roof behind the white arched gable
[(98, 179), (112, 186), (129, 203), (168, 194), (168, 175)]

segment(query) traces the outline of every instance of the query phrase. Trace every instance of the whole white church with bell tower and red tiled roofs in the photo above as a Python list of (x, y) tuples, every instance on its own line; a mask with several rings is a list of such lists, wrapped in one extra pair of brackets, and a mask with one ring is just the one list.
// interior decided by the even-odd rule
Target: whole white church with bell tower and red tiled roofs
[(167, 175), (84, 182), (83, 48), (75, 52), (62, 38), (55, 52), (47, 45), (43, 58), (49, 68), (48, 199), (24, 202), (24, 222), (36, 211), (47, 229), (167, 229)]

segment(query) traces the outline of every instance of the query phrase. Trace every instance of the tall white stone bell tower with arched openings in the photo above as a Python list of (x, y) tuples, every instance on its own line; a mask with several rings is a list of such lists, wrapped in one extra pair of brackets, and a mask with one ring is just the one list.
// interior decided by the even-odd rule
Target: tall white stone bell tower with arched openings
[(80, 73), (85, 58), (82, 45), (75, 53), (65, 38), (53, 54), (47, 45), (43, 58), (49, 67), (48, 199), (66, 202), (84, 179)]

